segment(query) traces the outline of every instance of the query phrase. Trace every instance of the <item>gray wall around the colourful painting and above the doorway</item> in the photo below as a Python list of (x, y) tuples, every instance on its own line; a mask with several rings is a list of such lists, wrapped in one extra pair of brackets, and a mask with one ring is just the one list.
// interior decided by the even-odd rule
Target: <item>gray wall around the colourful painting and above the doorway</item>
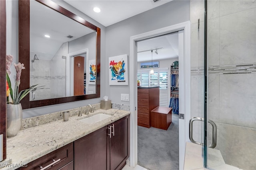
[[(123, 54), (128, 54), (128, 64), (130, 64), (130, 37), (188, 21), (189, 4), (190, 2), (186, 0), (171, 1), (108, 26), (106, 28), (106, 65), (109, 57)], [(108, 77), (108, 67), (105, 68), (105, 72), (107, 72)], [(128, 76), (130, 77), (130, 75)], [(128, 86), (109, 86), (109, 80), (107, 78), (105, 88), (106, 95), (109, 96), (112, 102), (130, 104), (130, 102), (121, 102), (121, 93), (130, 94), (130, 82)]]

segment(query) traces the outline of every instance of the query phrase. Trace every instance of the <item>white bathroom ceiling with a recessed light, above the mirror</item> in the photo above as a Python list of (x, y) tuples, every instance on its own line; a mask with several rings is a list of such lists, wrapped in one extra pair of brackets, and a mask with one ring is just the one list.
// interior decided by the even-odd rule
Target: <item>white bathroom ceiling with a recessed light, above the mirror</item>
[[(90, 18), (98, 21), (105, 27), (125, 20), (172, 0), (64, 0), (74, 8), (80, 10)], [(101, 12), (93, 11), (94, 7)]]

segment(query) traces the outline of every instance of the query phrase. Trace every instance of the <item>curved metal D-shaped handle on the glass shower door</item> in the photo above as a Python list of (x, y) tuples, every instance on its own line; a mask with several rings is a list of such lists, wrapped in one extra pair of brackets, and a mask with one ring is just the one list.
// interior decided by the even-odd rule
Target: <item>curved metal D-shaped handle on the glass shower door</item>
[[(202, 117), (192, 117), (189, 120), (189, 139), (192, 143), (198, 144), (198, 145), (202, 145), (203, 143), (200, 142), (196, 142), (193, 139), (193, 121), (204, 121), (204, 118)], [(214, 121), (212, 120), (208, 120), (208, 123), (210, 123), (212, 125), (212, 144), (208, 145), (209, 148), (215, 148), (217, 145), (217, 126), (214, 123)]]

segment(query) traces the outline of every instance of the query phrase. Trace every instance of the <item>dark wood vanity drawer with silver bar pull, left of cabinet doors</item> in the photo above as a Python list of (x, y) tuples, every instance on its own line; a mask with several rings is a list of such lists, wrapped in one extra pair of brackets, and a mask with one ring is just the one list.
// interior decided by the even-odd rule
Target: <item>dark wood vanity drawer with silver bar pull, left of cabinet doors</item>
[[(60, 149), (54, 150), (42, 156), (41, 158), (38, 158), (28, 163), (27, 167), (21, 167), (20, 170), (40, 170), (52, 164), (54, 162), (53, 160), (59, 161), (50, 166), (49, 168), (46, 168), (47, 170), (58, 170), (74, 160), (73, 143), (61, 147)], [(42, 166), (42, 168), (40, 168), (40, 166)]]

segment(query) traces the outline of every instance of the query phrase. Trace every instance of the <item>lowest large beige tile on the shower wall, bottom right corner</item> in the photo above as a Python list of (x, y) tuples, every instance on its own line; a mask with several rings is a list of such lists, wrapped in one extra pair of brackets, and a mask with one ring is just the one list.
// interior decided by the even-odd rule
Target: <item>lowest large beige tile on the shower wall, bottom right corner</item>
[(243, 170), (255, 170), (255, 139), (254, 128), (220, 123), (220, 152), (226, 164)]

